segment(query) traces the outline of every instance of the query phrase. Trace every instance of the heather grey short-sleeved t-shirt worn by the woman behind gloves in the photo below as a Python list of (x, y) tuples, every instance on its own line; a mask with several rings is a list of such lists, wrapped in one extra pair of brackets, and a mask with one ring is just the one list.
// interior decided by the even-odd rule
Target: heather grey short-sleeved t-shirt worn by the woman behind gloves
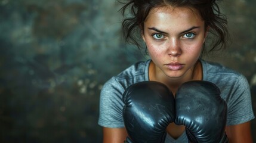
[[(124, 128), (122, 94), (129, 85), (149, 80), (150, 61), (138, 62), (104, 84), (100, 94), (98, 125), (107, 128)], [(220, 88), (221, 98), (227, 102), (227, 126), (254, 119), (251, 93), (246, 78), (220, 64), (204, 60), (201, 60), (201, 63), (203, 80), (215, 83)], [(186, 133), (184, 132), (178, 139), (167, 135), (165, 142), (187, 142)]]

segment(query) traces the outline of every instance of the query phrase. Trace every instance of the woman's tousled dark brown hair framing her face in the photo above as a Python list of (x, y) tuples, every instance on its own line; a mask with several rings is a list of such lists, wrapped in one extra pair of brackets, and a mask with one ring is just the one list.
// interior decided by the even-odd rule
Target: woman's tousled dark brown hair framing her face
[(229, 39), (227, 19), (220, 12), (220, 8), (215, 0), (129, 0), (126, 3), (121, 3), (124, 4), (124, 7), (121, 8), (123, 16), (129, 10), (129, 16), (122, 22), (122, 32), (125, 41), (137, 45), (138, 48), (142, 48), (140, 44), (141, 29), (144, 29), (144, 20), (146, 20), (150, 10), (166, 5), (195, 8), (199, 11), (199, 14), (205, 21), (205, 27), (210, 27), (208, 31), (213, 36), (211, 37), (212, 43), (208, 44), (212, 46), (209, 47), (209, 51), (226, 48), (227, 46)]

